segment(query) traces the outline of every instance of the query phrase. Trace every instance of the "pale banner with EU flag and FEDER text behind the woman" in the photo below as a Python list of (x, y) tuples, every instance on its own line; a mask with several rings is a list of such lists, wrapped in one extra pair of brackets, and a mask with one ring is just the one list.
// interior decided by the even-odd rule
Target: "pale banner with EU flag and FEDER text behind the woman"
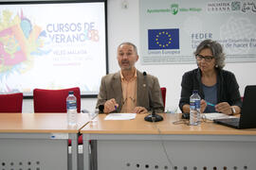
[(205, 39), (220, 42), (227, 62), (256, 61), (256, 1), (140, 0), (142, 64), (194, 63)]

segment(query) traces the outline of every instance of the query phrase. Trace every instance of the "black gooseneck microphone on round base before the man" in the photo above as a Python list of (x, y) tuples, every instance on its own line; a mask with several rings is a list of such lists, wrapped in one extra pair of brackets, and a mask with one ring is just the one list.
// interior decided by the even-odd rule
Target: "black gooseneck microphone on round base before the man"
[(149, 96), (149, 105), (150, 108), (152, 107), (152, 113), (144, 117), (144, 120), (147, 122), (159, 122), (163, 120), (163, 117), (155, 113), (154, 104), (152, 103), (152, 95), (149, 91), (148, 87), (148, 79), (147, 79), (147, 73), (143, 72), (144, 80), (146, 81), (146, 88), (147, 88), (147, 94)]

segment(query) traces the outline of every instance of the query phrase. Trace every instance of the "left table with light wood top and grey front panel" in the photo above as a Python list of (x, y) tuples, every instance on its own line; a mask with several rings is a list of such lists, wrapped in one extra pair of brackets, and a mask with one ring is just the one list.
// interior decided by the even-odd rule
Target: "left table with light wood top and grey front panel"
[(0, 169), (77, 170), (78, 132), (86, 123), (86, 114), (68, 127), (65, 113), (0, 113)]

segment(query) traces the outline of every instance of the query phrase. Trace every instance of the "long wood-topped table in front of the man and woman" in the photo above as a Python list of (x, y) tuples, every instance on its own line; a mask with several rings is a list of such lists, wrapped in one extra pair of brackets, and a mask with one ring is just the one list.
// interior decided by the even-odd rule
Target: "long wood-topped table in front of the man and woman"
[[(256, 128), (238, 130), (212, 122), (198, 127), (174, 125), (174, 114), (149, 123), (144, 116), (104, 121), (105, 115), (99, 115), (97, 126), (83, 127), (84, 164), (92, 162), (93, 169), (99, 170), (256, 169)], [(91, 161), (89, 140), (96, 144)]]

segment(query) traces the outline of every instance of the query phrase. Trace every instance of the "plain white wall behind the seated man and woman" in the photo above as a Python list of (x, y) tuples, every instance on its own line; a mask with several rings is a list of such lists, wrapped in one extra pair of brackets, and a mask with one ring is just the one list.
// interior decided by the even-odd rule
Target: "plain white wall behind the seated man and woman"
[[(122, 8), (122, 2), (128, 3), (128, 8)], [(117, 62), (117, 46), (120, 42), (134, 42), (139, 53), (139, 0), (108, 0), (108, 58), (109, 73), (119, 70)], [(159, 1), (160, 2), (160, 1)], [(184, 72), (192, 70), (195, 64), (168, 64), (168, 65), (141, 65), (137, 61), (137, 69), (157, 76), (160, 86), (167, 88), (166, 109), (175, 110), (181, 91), (180, 82)], [(256, 62), (252, 63), (228, 63), (226, 70), (233, 72), (240, 85), (240, 93), (243, 95), (248, 84), (256, 84)], [(82, 109), (92, 110), (97, 99), (82, 99)], [(179, 110), (178, 110), (179, 111)], [(23, 112), (33, 112), (32, 100), (26, 99)]]

